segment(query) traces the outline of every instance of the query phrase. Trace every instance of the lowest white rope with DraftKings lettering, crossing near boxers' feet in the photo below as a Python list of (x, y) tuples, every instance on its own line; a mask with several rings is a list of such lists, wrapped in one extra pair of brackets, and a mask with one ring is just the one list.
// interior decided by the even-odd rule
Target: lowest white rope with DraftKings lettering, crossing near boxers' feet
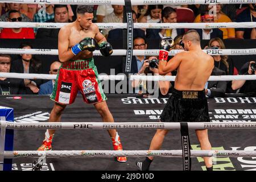
[[(117, 156), (127, 157), (182, 157), (182, 150), (133, 150), (133, 151), (112, 151), (112, 150), (63, 150), (63, 151), (5, 151), (6, 159), (14, 158), (88, 158), (101, 157), (113, 158)], [(191, 157), (256, 157), (256, 151), (232, 151), (232, 150), (191, 150)]]

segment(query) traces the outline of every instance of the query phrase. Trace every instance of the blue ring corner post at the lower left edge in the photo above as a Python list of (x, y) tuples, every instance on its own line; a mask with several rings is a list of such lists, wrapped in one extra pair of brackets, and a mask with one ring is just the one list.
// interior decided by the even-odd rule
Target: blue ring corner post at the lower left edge
[(11, 171), (13, 164), (12, 159), (4, 159), (2, 157), (2, 152), (13, 151), (13, 140), (14, 140), (14, 130), (5, 130), (5, 121), (14, 122), (13, 108), (0, 106), (0, 120), (3, 121), (0, 130), (0, 171)]

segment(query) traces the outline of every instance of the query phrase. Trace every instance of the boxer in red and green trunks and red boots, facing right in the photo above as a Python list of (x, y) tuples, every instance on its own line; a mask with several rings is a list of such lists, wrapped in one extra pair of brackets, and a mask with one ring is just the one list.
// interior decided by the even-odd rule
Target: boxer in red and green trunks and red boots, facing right
[[(92, 23), (92, 6), (79, 5), (77, 19), (62, 27), (58, 37), (59, 60), (62, 65), (56, 78), (51, 100), (55, 105), (49, 122), (59, 122), (65, 107), (75, 101), (80, 90), (84, 101), (93, 104), (100, 113), (102, 121), (114, 122), (106, 104), (106, 96), (101, 88), (97, 68), (94, 65), (93, 51), (98, 43), (102, 55), (112, 54), (112, 46), (100, 33), (98, 26)], [(122, 144), (116, 130), (108, 130), (114, 150), (122, 150)], [(47, 130), (42, 146), (38, 150), (51, 150), (55, 130)], [(126, 162), (126, 157), (117, 157), (118, 162)]]

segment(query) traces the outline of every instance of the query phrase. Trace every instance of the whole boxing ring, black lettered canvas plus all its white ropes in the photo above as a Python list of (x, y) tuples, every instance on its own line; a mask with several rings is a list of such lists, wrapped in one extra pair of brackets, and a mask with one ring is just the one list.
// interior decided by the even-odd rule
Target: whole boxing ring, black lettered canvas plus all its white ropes
[[(13, 2), (13, 1), (4, 1)], [(94, 5), (93, 1), (81, 1)], [(125, 5), (127, 1), (99, 1), (112, 5)], [(131, 0), (132, 5), (143, 5), (150, 2)], [(212, 1), (211, 1), (212, 2)], [(220, 3), (239, 3), (226, 0)], [(38, 3), (24, 0), (20, 3)], [(51, 0), (53, 4), (70, 4), (68, 1)], [(159, 4), (176, 4), (156, 1)], [(177, 4), (191, 4), (190, 1), (181, 1)], [(197, 4), (209, 4), (210, 1), (198, 1)], [(250, 1), (243, 2), (250, 3)], [(98, 5), (99, 3), (97, 3)], [(195, 4), (195, 3), (194, 3)], [(1, 22), (1, 27), (34, 27), (60, 28), (64, 23), (10, 23)], [(99, 28), (127, 28), (129, 23), (96, 23)], [(133, 28), (238, 28), (256, 27), (256, 22), (243, 23), (134, 23)], [(158, 55), (159, 50), (132, 50), (132, 55)], [(170, 51), (175, 55), (180, 50)], [(205, 50), (209, 55), (256, 55), (256, 48), (252, 49), (218, 49)], [(57, 49), (42, 51), (40, 49), (10, 49), (0, 48), (0, 53), (12, 54), (47, 54), (57, 55)], [(115, 49), (112, 56), (127, 56), (129, 49)], [(95, 51), (94, 56), (101, 56)], [(55, 75), (0, 73), (0, 77), (10, 78), (38, 78), (54, 79)], [(100, 75), (101, 80), (125, 80), (125, 75)], [(131, 80), (168, 80), (174, 81), (174, 76), (130, 76)], [(255, 80), (253, 76), (211, 76), (212, 80)], [(2, 151), (5, 159), (13, 159), (13, 170), (32, 169), (31, 158), (44, 156), (47, 159), (43, 169), (47, 170), (106, 170), (106, 171), (134, 171), (135, 159), (144, 156), (158, 156), (151, 165), (151, 170), (182, 170), (183, 150), (180, 150), (180, 123), (159, 123), (158, 118), (168, 97), (165, 98), (136, 98), (135, 94), (109, 94), (107, 101), (113, 114), (115, 123), (101, 123), (100, 115), (90, 105), (82, 104), (81, 96), (77, 96), (75, 104), (67, 107), (61, 123), (48, 123), (49, 111), (53, 102), (48, 96), (0, 96), (1, 105), (14, 108), (14, 123), (1, 120), (1, 133), (5, 129), (14, 130), (14, 151)], [(208, 98), (211, 123), (187, 123), (189, 130), (210, 129), (209, 139), (213, 150), (200, 151), (194, 132), (190, 133), (193, 170), (205, 170), (201, 157), (214, 157), (215, 170), (256, 170), (255, 157), (255, 129), (256, 129), (256, 98), (242, 95), (230, 95), (226, 98)], [(40, 103), (40, 105), (37, 105)], [(227, 105), (225, 105), (227, 104)], [(82, 107), (81, 107), (82, 105)], [(122, 109), (121, 109), (122, 108)], [(252, 108), (252, 109), (251, 109)], [(71, 122), (72, 121), (72, 122)], [(75, 121), (75, 122), (74, 122)], [(90, 122), (85, 122), (90, 121)], [(148, 151), (155, 130), (171, 129), (164, 140), (163, 150)], [(56, 129), (57, 135), (53, 142), (53, 151), (35, 151), (39, 146), (43, 132), (46, 129)], [(122, 137), (123, 151), (110, 149), (109, 135), (98, 130), (117, 129)], [(148, 129), (148, 130), (144, 130)], [(214, 129), (214, 130), (212, 130)], [(221, 130), (224, 129), (224, 130)], [(236, 130), (234, 130), (236, 129)], [(245, 130), (246, 129), (246, 133)], [(68, 131), (65, 131), (68, 130)], [(84, 131), (85, 130), (85, 131)], [(96, 131), (95, 131), (96, 130)], [(234, 132), (236, 131), (236, 132)], [(2, 137), (2, 135), (1, 135)], [(1, 139), (2, 141), (2, 139)], [(3, 143), (0, 145), (4, 146)], [(81, 148), (83, 150), (81, 150)], [(170, 148), (172, 150), (170, 150)], [(0, 150), (1, 151), (1, 150)], [(1, 152), (0, 152), (1, 153)], [(117, 163), (112, 158), (127, 156), (125, 164)], [(61, 158), (61, 159), (56, 159)], [(0, 161), (2, 163), (2, 161)]]

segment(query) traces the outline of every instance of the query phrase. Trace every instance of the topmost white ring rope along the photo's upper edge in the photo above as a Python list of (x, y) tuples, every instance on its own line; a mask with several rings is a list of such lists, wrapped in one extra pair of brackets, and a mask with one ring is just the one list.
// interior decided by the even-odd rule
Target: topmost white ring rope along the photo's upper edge
[[(3, 0), (2, 2), (55, 5), (125, 5), (123, 0)], [(131, 5), (250, 4), (255, 2), (255, 0), (131, 0)]]

